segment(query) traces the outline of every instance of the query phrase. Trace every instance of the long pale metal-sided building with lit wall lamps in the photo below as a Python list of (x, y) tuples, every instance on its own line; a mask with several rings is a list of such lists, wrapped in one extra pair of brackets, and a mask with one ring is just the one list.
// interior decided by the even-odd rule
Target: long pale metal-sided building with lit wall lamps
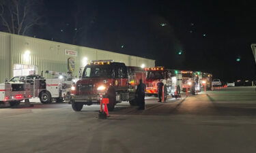
[(79, 70), (89, 61), (109, 59), (128, 66), (155, 65), (154, 60), (138, 56), (0, 32), (0, 82), (16, 75), (40, 74), (46, 70), (72, 71), (74, 76), (79, 76)]

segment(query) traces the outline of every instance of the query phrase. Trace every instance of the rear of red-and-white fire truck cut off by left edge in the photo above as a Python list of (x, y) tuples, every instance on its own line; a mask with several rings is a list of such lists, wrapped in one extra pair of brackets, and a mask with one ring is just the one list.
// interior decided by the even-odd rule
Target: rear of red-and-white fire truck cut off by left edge
[(20, 101), (31, 98), (29, 84), (16, 82), (0, 84), (0, 106), (19, 105)]

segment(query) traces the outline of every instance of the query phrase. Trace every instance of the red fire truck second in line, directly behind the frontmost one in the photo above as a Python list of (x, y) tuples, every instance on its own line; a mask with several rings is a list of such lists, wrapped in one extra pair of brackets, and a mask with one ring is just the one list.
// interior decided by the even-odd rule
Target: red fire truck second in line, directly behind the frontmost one
[(167, 95), (171, 95), (171, 86), (172, 86), (172, 75), (170, 69), (165, 69), (165, 67), (147, 67), (145, 68), (147, 71), (147, 96), (154, 95), (155, 97), (158, 96), (158, 82), (162, 80), (164, 84), (165, 90), (165, 99), (167, 99)]

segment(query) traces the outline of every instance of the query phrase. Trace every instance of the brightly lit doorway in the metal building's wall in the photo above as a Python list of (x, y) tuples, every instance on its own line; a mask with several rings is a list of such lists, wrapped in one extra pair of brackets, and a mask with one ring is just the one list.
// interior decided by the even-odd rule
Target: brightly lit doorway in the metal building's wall
[(14, 65), (14, 77), (20, 75), (31, 75), (36, 73), (35, 65)]

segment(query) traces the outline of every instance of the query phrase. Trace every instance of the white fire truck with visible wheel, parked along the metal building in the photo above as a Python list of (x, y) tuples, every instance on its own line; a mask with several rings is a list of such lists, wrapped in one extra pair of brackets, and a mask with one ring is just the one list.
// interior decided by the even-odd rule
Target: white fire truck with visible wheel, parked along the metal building
[(42, 78), (42, 75), (16, 76), (10, 80), (13, 82), (26, 82), (30, 84), (31, 97), (38, 97), (41, 103), (62, 103), (70, 97), (72, 79), (67, 78), (68, 74), (55, 71), (46, 71), (54, 75), (53, 79)]

